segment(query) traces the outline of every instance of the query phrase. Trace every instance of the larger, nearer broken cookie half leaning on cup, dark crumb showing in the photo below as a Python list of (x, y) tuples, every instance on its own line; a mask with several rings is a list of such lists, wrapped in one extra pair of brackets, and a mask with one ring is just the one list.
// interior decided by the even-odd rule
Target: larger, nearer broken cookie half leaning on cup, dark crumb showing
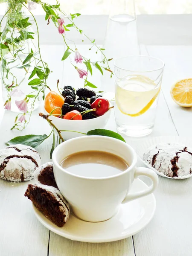
[(29, 184), (25, 196), (58, 227), (63, 227), (67, 222), (70, 208), (58, 189), (42, 184)]

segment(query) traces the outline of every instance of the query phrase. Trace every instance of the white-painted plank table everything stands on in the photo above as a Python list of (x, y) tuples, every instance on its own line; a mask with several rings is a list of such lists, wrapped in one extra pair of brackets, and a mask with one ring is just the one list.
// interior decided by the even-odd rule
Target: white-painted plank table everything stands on
[[(192, 77), (192, 46), (141, 45), (141, 53), (161, 58), (165, 62), (162, 91), (154, 131), (150, 136), (191, 136), (192, 108), (180, 108), (169, 94), (172, 84), (180, 78)], [(78, 47), (84, 51), (83, 46)], [(88, 47), (87, 47), (88, 48)], [(44, 58), (54, 73), (50, 86), (57, 79), (64, 85), (81, 86), (66, 62), (59, 62), (64, 52), (61, 45), (42, 45)], [(49, 53), (49, 54), (48, 54)], [(55, 65), (57, 68), (55, 69)], [(94, 79), (100, 81), (99, 73)], [(10, 131), (14, 114), (6, 112), (0, 126), (0, 148), (11, 138), (25, 134), (48, 134), (49, 126), (32, 114), (30, 125), (20, 134)], [(3, 113), (0, 111), (0, 113)], [(114, 116), (106, 127), (116, 131)], [(51, 140), (38, 147), (42, 162), (49, 160)], [(192, 178), (170, 180), (159, 177), (154, 192), (157, 210), (151, 223), (140, 233), (121, 241), (91, 244), (70, 241), (47, 230), (35, 218), (31, 202), (24, 197), (27, 184), (0, 180), (0, 256), (191, 256), (192, 255)]]

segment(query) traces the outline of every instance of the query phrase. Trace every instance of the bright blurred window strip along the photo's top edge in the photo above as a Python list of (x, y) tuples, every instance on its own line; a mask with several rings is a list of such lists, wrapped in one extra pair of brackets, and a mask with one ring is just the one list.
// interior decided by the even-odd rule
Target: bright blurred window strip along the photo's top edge
[[(124, 0), (60, 0), (61, 9), (65, 12), (80, 12), (85, 15), (107, 15), (110, 8), (118, 9), (119, 2)], [(126, 0), (132, 1), (132, 0)], [(0, 0), (1, 2), (1, 0)], [(56, 3), (55, 0), (45, 1), (50, 4)], [(135, 0), (136, 13), (139, 14), (189, 14), (192, 13), (192, 0)], [(6, 5), (0, 4), (0, 14), (2, 15), (6, 9)], [(33, 11), (34, 14), (44, 14), (39, 8)]]

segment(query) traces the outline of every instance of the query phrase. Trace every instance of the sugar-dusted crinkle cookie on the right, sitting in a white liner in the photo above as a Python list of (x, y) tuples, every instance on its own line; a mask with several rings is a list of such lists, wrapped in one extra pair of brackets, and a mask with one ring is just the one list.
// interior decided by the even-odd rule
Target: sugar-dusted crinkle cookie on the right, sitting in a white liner
[(184, 145), (168, 143), (151, 146), (143, 159), (167, 177), (192, 174), (192, 148)]

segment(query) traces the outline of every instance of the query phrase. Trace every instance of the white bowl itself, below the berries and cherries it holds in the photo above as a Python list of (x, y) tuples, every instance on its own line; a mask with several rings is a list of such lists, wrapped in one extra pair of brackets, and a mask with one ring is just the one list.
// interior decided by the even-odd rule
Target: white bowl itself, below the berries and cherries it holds
[(110, 115), (111, 115), (111, 108), (104, 115), (98, 116), (93, 119), (68, 120), (68, 119), (58, 118), (56, 116), (49, 116), (49, 119), (52, 120), (52, 123), (58, 128), (58, 130), (68, 130), (68, 131), (61, 131), (61, 136), (64, 138), (64, 140), (69, 140), (75, 137), (85, 136), (84, 134), (79, 134), (77, 132), (71, 132), (71, 131), (79, 131), (82, 133), (87, 133), (90, 130), (105, 128), (105, 125), (107, 124)]

